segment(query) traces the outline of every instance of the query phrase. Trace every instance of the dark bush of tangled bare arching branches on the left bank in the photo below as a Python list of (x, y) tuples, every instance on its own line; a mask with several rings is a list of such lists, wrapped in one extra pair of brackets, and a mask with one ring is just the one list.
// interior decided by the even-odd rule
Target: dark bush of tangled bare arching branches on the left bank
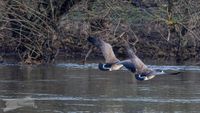
[[(66, 11), (62, 8), (67, 3), (64, 0), (1, 1), (0, 37), (3, 47), (9, 46), (17, 51), (21, 61), (27, 64), (53, 62), (61, 45), (56, 24), (59, 15)], [(10, 35), (6, 36), (3, 31)]]

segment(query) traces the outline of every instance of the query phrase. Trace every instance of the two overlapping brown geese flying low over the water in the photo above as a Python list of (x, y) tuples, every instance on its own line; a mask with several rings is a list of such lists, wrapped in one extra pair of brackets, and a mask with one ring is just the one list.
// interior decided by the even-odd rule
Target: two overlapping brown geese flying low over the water
[(112, 46), (99, 37), (88, 37), (87, 40), (97, 48), (99, 48), (105, 58), (105, 64), (99, 63), (99, 69), (102, 71), (119, 70), (123, 66), (135, 74), (135, 78), (139, 81), (150, 80), (157, 75), (175, 75), (180, 72), (166, 73), (163, 70), (153, 70), (145, 65), (140, 58), (133, 52), (127, 41), (125, 47), (129, 56), (127, 60), (119, 60), (116, 58)]

